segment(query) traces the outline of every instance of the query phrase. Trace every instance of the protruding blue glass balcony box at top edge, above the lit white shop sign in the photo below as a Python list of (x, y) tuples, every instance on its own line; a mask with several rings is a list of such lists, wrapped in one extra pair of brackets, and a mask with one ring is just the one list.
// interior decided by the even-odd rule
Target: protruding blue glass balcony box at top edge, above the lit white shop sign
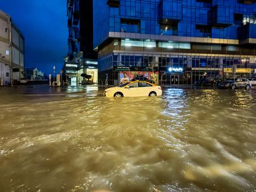
[(162, 0), (158, 5), (158, 15), (161, 24), (178, 23), (182, 20), (182, 1)]

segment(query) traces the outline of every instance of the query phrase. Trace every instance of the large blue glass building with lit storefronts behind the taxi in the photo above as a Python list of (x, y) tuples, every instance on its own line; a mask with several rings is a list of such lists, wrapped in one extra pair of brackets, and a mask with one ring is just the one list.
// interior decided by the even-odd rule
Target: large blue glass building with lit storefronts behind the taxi
[(98, 81), (124, 73), (158, 84), (201, 78), (253, 78), (256, 1), (94, 1)]

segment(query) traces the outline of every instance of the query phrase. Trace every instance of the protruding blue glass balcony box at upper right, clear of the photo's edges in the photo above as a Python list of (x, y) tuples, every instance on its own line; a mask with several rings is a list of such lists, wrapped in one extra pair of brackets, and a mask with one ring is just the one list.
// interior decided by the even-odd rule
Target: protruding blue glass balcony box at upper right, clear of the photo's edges
[(234, 23), (234, 8), (216, 5), (208, 11), (208, 24), (212, 26), (230, 26)]

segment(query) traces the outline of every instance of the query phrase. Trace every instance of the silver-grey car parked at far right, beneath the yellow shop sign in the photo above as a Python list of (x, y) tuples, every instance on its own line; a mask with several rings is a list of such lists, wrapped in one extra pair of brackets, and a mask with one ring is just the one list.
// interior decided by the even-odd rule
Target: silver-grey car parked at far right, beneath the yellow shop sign
[(223, 79), (222, 81), (218, 82), (217, 87), (224, 88), (224, 89), (237, 89), (237, 88), (250, 89), (250, 87), (252, 87), (252, 84), (246, 78), (238, 78), (238, 79), (231, 78), (231, 79)]

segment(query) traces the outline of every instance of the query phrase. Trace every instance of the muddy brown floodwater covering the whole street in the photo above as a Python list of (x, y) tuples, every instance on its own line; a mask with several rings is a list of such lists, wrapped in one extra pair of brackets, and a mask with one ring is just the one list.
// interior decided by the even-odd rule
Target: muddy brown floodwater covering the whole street
[(256, 89), (0, 88), (0, 191), (255, 191)]

